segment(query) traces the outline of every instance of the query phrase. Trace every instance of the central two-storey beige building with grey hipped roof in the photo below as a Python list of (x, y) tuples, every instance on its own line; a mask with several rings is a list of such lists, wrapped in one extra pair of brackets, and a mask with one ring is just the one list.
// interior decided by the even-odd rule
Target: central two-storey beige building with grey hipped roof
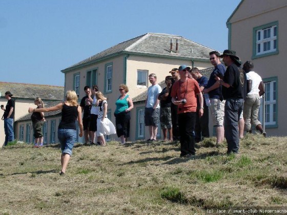
[[(147, 33), (62, 70), (65, 74), (65, 92), (75, 90), (80, 100), (85, 96), (85, 85), (97, 84), (108, 98), (108, 117), (115, 122), (113, 113), (121, 83), (128, 85), (128, 94), (134, 98), (151, 85), (148, 81), (151, 73), (155, 73), (160, 82), (172, 68), (183, 64), (199, 69), (211, 67), (211, 51), (214, 50), (181, 36)], [(131, 112), (130, 140), (147, 138), (142, 119), (142, 105), (135, 105)], [(116, 135), (108, 138), (117, 139)]]

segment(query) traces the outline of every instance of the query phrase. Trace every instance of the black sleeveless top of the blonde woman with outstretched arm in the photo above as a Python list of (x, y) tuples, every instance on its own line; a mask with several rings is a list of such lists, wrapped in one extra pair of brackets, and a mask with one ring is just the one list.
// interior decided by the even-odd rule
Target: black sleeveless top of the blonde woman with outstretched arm
[(78, 117), (78, 106), (68, 106), (63, 103), (62, 118), (58, 129), (73, 129), (76, 128), (76, 119)]

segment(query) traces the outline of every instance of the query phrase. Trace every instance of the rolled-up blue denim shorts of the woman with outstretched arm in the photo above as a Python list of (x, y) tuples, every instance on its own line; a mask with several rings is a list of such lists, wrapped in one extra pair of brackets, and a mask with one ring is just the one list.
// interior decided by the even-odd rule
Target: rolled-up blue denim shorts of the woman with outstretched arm
[(58, 139), (61, 144), (61, 152), (62, 154), (66, 153), (70, 156), (72, 155), (72, 149), (76, 142), (77, 131), (73, 129), (58, 129)]

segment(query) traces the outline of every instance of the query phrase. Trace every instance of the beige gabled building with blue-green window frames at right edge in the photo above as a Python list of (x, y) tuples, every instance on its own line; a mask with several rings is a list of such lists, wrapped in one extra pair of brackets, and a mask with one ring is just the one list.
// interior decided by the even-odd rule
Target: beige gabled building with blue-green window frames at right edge
[[(253, 61), (254, 70), (265, 83), (265, 127), (268, 135), (277, 136), (287, 135), (283, 93), (287, 78), (283, 71), (287, 54), (286, 13), (286, 0), (242, 0), (227, 20), (229, 49), (235, 50), (242, 62)], [(262, 122), (262, 108), (259, 115)]]

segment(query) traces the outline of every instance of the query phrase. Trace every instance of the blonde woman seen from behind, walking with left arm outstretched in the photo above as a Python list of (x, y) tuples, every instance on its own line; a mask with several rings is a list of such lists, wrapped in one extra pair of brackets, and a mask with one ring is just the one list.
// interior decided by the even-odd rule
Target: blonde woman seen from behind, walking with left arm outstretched
[(59, 103), (55, 106), (43, 108), (43, 109), (33, 109), (29, 107), (28, 112), (50, 112), (61, 110), (61, 122), (58, 126), (58, 139), (61, 146), (61, 171), (60, 175), (66, 173), (66, 168), (68, 166), (70, 157), (72, 155), (72, 149), (76, 141), (77, 128), (76, 119), (78, 119), (78, 124), (80, 128), (79, 136), (83, 136), (83, 122), (81, 119), (81, 107), (78, 105), (78, 97), (75, 91), (67, 91), (66, 101)]

